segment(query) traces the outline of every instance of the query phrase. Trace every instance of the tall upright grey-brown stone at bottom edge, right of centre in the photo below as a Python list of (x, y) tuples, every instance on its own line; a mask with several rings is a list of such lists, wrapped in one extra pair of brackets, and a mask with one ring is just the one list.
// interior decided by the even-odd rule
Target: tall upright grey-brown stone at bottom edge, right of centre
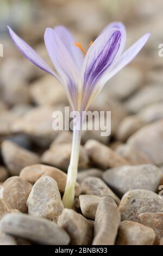
[(114, 245), (121, 217), (115, 201), (103, 197), (99, 201), (92, 245)]

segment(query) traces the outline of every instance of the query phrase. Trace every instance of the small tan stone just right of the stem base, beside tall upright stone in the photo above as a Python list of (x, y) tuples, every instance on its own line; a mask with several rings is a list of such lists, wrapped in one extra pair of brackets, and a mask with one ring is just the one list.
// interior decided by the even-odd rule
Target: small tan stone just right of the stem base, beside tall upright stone
[(80, 209), (84, 217), (95, 220), (96, 210), (100, 199), (101, 197), (92, 196), (90, 194), (80, 194)]

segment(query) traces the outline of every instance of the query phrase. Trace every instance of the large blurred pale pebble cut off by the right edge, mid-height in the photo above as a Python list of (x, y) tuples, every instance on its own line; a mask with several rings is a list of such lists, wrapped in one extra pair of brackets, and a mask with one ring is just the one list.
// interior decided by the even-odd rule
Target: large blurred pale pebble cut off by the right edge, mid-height
[[(163, 87), (162, 87), (163, 88)], [(127, 141), (130, 148), (147, 154), (155, 165), (163, 163), (163, 119), (142, 127)], [(150, 139), (149, 139), (150, 138)]]

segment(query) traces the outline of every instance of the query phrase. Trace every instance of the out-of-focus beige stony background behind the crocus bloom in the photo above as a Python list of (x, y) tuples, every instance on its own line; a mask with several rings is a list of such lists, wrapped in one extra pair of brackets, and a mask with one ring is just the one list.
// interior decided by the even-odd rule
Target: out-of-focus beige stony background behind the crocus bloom
[(151, 38), (136, 59), (105, 85), (91, 106), (111, 111), (111, 136), (86, 131), (83, 143), (95, 138), (116, 148), (142, 126), (163, 118), (163, 58), (158, 56), (163, 43), (162, 8), (161, 0), (1, 0), (1, 139), (12, 139), (34, 151), (45, 150), (58, 136), (52, 131), (52, 112), (68, 105), (58, 82), (17, 51), (7, 25), (50, 65), (43, 42), (46, 27), (66, 26), (86, 49), (112, 21), (126, 25), (127, 47), (150, 32)]

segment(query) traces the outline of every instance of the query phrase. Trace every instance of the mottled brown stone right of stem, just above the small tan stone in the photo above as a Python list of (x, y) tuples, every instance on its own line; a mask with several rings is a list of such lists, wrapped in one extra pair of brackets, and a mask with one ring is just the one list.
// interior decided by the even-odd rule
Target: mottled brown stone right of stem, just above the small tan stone
[(99, 178), (87, 177), (83, 180), (81, 187), (83, 194), (90, 194), (97, 197), (111, 197), (117, 204), (120, 204), (120, 199), (116, 194)]

